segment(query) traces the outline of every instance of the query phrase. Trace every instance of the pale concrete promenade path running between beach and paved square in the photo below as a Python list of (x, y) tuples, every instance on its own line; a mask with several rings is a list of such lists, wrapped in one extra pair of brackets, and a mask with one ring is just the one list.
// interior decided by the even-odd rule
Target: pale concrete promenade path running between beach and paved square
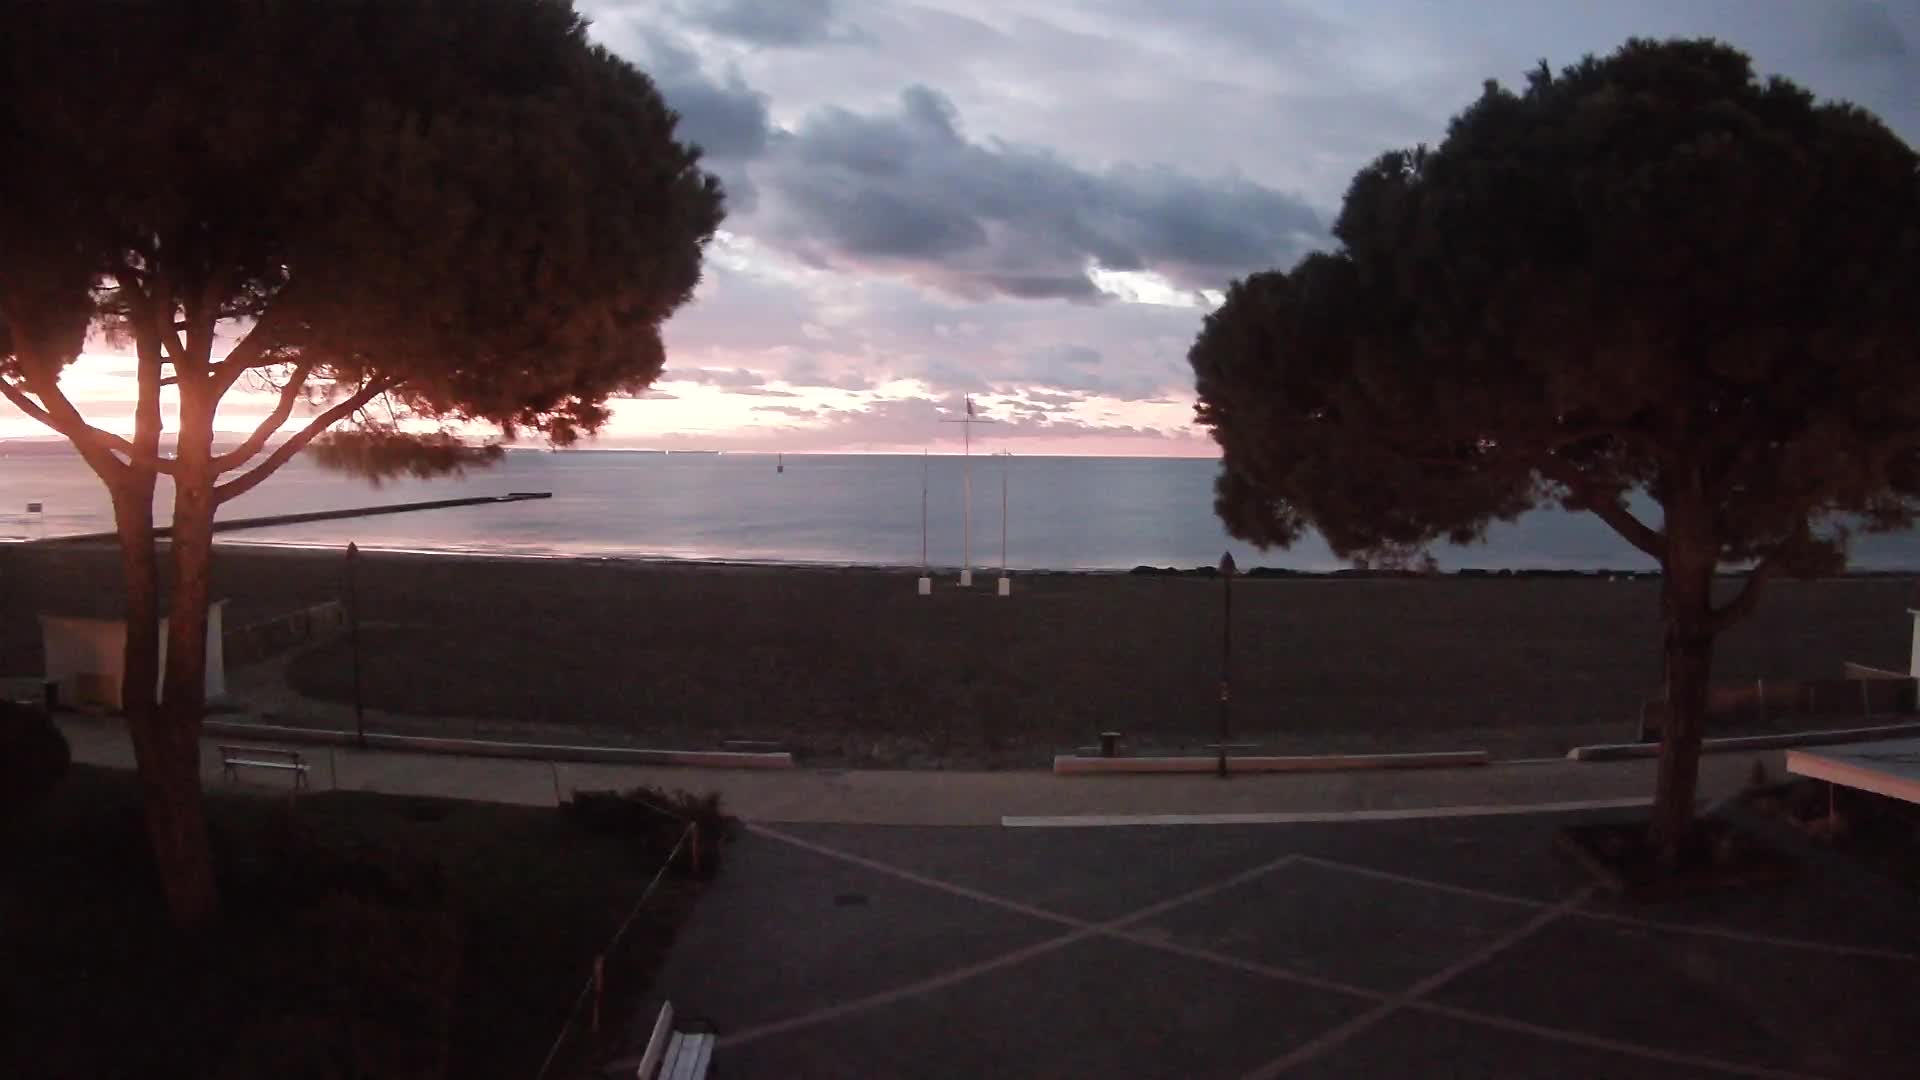
[[(63, 717), (77, 761), (132, 767), (125, 724)], [(219, 740), (202, 744), (202, 771), (223, 784)], [(244, 742), (244, 740), (232, 740)], [(747, 773), (637, 765), (586, 765), (300, 748), (315, 790), (442, 796), (553, 805), (574, 790), (655, 784), (720, 792), (730, 813), (758, 822), (1002, 824), (1006, 819), (1137, 815), (1300, 815), (1394, 809), (1509, 809), (1620, 805), (1653, 792), (1651, 761), (1542, 761), (1444, 771), (1235, 776), (1054, 776), (1044, 771), (941, 773), (793, 769)], [(1782, 755), (1716, 755), (1701, 763), (1701, 796), (1734, 794), (1759, 759), (1780, 774)], [(250, 786), (286, 786), (284, 774), (250, 774)], [(1008, 822), (1018, 824), (1018, 821)]]

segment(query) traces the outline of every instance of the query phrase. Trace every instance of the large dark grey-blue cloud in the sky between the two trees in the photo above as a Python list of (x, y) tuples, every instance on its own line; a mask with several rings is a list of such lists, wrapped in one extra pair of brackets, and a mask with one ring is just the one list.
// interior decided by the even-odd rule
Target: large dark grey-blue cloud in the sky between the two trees
[(1321, 238), (1304, 200), (1240, 177), (1092, 173), (1046, 150), (975, 142), (927, 86), (906, 88), (893, 113), (812, 113), (756, 177), (778, 194), (772, 236), (801, 258), (962, 296), (1092, 300), (1089, 263), (1213, 288)]

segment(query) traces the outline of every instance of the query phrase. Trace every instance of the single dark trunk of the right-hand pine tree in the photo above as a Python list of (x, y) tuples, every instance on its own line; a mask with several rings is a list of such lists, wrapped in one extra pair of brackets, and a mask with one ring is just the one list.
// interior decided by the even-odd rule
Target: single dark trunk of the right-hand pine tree
[[(1676, 517), (1680, 521), (1676, 521)], [(1713, 571), (1718, 548), (1668, 509), (1668, 550), (1661, 577), (1667, 617), (1667, 723), (1653, 786), (1651, 840), (1678, 861), (1693, 834), (1699, 742), (1707, 726), (1713, 676)]]

